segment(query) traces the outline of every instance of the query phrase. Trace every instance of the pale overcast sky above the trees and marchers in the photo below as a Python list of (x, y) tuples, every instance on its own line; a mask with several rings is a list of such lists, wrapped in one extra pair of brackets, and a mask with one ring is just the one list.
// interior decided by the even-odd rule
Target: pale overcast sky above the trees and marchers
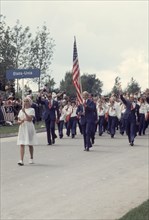
[(122, 89), (132, 77), (142, 91), (149, 87), (148, 0), (1, 0), (0, 5), (11, 27), (17, 20), (32, 33), (47, 26), (56, 44), (49, 71), (56, 88), (72, 70), (74, 36), (80, 73), (95, 74), (102, 94), (111, 91), (117, 76)]

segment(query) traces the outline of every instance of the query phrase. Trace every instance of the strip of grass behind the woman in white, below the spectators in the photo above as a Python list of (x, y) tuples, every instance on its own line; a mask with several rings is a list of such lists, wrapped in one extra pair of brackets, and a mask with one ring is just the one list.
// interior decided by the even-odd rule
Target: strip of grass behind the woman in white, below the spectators
[[(35, 129), (41, 129), (45, 127), (45, 123), (43, 121), (35, 123)], [(0, 127), (0, 134), (11, 134), (18, 132), (19, 125), (5, 125)]]

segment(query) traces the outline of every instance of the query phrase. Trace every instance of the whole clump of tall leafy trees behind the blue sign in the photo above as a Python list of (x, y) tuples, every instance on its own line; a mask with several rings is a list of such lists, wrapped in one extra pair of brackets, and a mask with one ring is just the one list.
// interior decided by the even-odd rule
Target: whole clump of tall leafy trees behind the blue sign
[[(7, 84), (7, 69), (39, 68), (41, 77), (40, 79), (36, 78), (34, 81), (39, 83), (39, 87), (40, 84), (45, 84), (49, 75), (47, 71), (51, 64), (55, 46), (54, 40), (49, 36), (50, 33), (47, 31), (47, 27), (44, 25), (41, 30), (38, 27), (35, 37), (32, 38), (29, 27), (23, 28), (19, 20), (17, 20), (13, 28), (10, 28), (5, 22), (5, 17), (1, 15), (0, 18), (1, 89), (4, 89)], [(53, 80), (53, 84), (55, 83), (54, 79), (50, 80)]]

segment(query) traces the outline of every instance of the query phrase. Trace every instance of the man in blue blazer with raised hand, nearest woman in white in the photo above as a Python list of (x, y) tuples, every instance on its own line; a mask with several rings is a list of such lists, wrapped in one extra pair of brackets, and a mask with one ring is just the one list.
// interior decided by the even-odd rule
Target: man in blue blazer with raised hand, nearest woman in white
[(48, 145), (55, 143), (55, 122), (59, 120), (60, 113), (58, 102), (52, 99), (51, 93), (47, 94), (47, 98), (38, 97), (38, 102), (45, 106), (43, 119), (45, 120)]

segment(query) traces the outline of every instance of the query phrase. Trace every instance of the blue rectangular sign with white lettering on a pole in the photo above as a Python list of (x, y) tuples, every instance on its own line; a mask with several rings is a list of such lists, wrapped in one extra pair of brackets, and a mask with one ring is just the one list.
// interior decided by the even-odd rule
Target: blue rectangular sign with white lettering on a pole
[(25, 79), (40, 77), (40, 69), (15, 69), (6, 70), (6, 78), (11, 79)]

